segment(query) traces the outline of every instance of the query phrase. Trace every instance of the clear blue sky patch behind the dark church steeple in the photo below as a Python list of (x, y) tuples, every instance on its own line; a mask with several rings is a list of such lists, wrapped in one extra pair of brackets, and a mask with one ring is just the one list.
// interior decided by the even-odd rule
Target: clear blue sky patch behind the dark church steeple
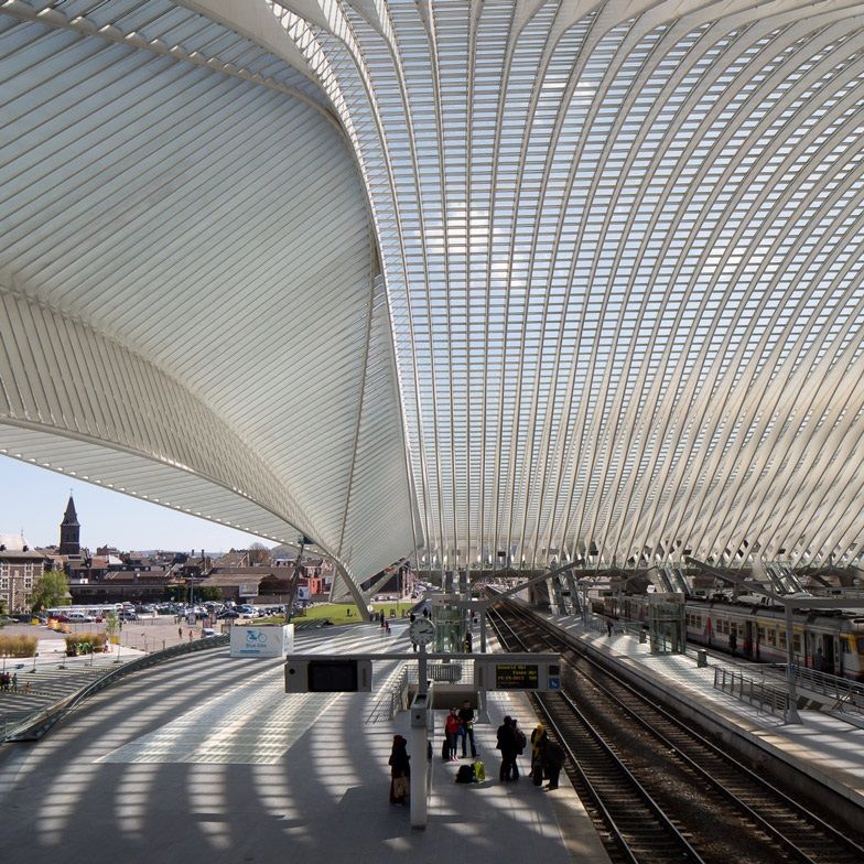
[(104, 489), (64, 474), (0, 456), (0, 533), (19, 533), (33, 546), (60, 542), (60, 523), (72, 489), (82, 546), (120, 550), (170, 549), (208, 552), (244, 549), (259, 540), (205, 519)]

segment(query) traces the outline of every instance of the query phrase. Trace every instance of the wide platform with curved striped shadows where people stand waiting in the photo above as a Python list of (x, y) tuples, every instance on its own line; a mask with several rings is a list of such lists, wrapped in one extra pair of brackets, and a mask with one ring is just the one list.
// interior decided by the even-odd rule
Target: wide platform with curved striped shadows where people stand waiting
[[(298, 654), (410, 650), (407, 620), (298, 634)], [(410, 661), (408, 661), (410, 665)], [(519, 693), (488, 694), (475, 737), (485, 782), (455, 782), (435, 712), (425, 829), (389, 803), (393, 734), (381, 709), (400, 663), (376, 661), (371, 693), (287, 694), (282, 660), (213, 649), (136, 673), (87, 700), (35, 744), (0, 747), (0, 856), (41, 864), (541, 860), (607, 861), (562, 774), (558, 790), (498, 780), (505, 714), (536, 724)], [(409, 750), (410, 752), (410, 750)], [(426, 754), (411, 753), (412, 764)], [(519, 758), (527, 775), (529, 757)]]

